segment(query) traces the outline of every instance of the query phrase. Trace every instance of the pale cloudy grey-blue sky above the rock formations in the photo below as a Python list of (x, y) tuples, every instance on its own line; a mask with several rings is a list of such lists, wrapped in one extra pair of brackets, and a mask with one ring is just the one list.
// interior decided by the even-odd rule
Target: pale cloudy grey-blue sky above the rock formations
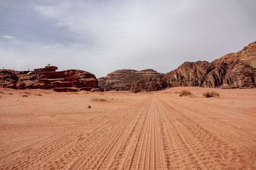
[(255, 0), (1, 0), (0, 68), (167, 73), (256, 41)]

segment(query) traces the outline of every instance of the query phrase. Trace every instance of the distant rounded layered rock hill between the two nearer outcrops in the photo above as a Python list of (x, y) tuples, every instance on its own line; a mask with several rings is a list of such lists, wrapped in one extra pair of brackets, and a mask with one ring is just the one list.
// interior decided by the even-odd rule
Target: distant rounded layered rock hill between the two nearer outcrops
[(161, 75), (154, 69), (137, 71), (134, 69), (119, 69), (109, 73), (106, 77), (100, 77), (99, 86), (104, 90), (129, 90), (130, 84), (142, 78)]

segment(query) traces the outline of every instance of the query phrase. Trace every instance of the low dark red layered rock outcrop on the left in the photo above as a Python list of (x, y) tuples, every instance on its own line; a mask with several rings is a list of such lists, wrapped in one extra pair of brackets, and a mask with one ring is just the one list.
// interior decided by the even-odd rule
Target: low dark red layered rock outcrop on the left
[(34, 71), (0, 70), (0, 86), (13, 89), (54, 89), (58, 92), (103, 90), (92, 73), (77, 69), (56, 69), (56, 66), (46, 66)]

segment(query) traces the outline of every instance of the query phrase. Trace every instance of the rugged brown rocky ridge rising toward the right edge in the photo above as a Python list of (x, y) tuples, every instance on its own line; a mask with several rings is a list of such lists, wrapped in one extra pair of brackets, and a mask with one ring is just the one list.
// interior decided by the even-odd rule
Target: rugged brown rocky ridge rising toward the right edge
[[(212, 62), (184, 62), (177, 69), (152, 79), (130, 85), (132, 92), (166, 87), (199, 86), (220, 88), (255, 88), (256, 41), (236, 53), (228, 53)], [(163, 87), (159, 86), (163, 85)]]

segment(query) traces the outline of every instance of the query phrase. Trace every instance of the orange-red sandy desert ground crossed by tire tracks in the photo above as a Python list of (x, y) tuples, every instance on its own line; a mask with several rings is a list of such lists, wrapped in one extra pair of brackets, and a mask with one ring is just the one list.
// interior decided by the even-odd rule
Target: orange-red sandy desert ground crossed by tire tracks
[(256, 89), (206, 90), (0, 89), (0, 169), (256, 169)]

